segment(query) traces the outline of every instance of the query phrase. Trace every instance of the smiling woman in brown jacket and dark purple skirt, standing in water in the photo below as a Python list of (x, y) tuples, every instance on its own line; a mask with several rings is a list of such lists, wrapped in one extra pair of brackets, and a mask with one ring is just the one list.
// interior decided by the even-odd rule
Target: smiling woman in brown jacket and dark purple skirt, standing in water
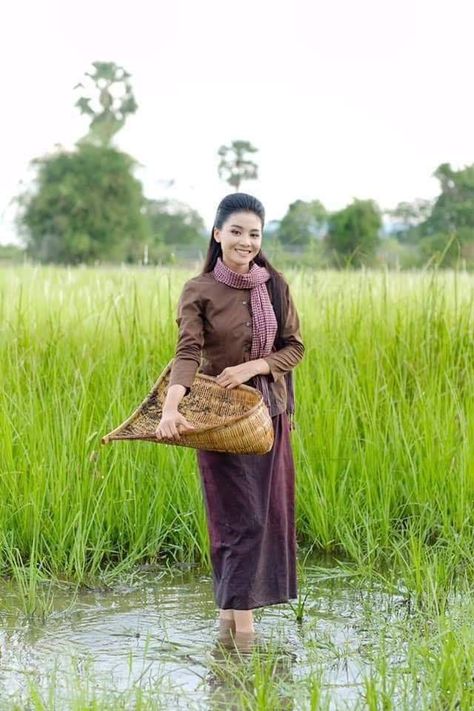
[(304, 345), (289, 287), (261, 251), (263, 205), (232, 193), (217, 208), (201, 274), (184, 285), (179, 338), (158, 439), (178, 441), (192, 425), (178, 404), (199, 372), (225, 388), (258, 388), (274, 444), (264, 455), (197, 451), (221, 631), (252, 637), (252, 610), (297, 597), (290, 443), (292, 369)]

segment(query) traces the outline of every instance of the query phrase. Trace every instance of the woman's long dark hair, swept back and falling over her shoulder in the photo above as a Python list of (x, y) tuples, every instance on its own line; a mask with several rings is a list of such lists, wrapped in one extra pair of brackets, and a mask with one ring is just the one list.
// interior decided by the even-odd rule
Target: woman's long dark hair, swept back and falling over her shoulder
[[(202, 274), (207, 272), (212, 272), (214, 269), (217, 258), (222, 258), (222, 248), (219, 242), (214, 239), (214, 228), (222, 229), (222, 226), (229, 219), (231, 215), (235, 212), (253, 212), (257, 217), (260, 218), (262, 223), (262, 233), (265, 225), (265, 208), (263, 207), (260, 200), (257, 200), (253, 195), (248, 193), (230, 193), (223, 198), (216, 212), (216, 217), (214, 219), (214, 224), (211, 230), (211, 239), (209, 241), (209, 247), (207, 250), (206, 258), (204, 260), (204, 267), (202, 269)], [(276, 335), (276, 340), (280, 339), (281, 330), (286, 321), (287, 314), (287, 304), (286, 304), (286, 281), (283, 275), (275, 269), (272, 264), (270, 264), (267, 257), (263, 254), (260, 249), (259, 253), (252, 260), (255, 264), (260, 267), (265, 267), (270, 272), (270, 279), (267, 284), (269, 286), (270, 295), (273, 299), (273, 310), (275, 311), (275, 316), (278, 323), (278, 330)], [(252, 263), (252, 262), (251, 262)]]

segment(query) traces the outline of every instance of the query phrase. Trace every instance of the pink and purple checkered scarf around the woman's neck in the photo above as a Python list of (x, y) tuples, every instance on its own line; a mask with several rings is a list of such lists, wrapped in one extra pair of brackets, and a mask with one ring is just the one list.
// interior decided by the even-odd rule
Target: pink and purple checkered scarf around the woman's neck
[[(250, 289), (250, 306), (252, 309), (252, 350), (250, 357), (255, 360), (269, 355), (272, 352), (278, 324), (265, 286), (265, 282), (270, 279), (268, 271), (265, 267), (260, 267), (254, 263), (248, 272), (239, 274), (226, 267), (222, 259), (218, 257), (213, 274), (217, 281), (234, 289)], [(256, 388), (263, 395), (266, 406), (270, 408), (268, 378), (265, 375), (257, 375), (254, 380)]]

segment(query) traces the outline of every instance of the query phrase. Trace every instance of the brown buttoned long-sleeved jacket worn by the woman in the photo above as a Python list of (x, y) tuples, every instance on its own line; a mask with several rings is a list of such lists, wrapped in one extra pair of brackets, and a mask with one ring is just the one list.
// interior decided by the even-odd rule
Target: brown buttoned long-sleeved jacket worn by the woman
[[(268, 284), (268, 282), (267, 282)], [(270, 300), (273, 302), (271, 290)], [(286, 285), (288, 315), (282, 329), (283, 347), (273, 346), (265, 356), (270, 366), (270, 414), (275, 416), (287, 406), (285, 373), (302, 359), (304, 345), (299, 318)], [(234, 289), (216, 281), (212, 272), (187, 281), (178, 303), (178, 343), (171, 367), (170, 385), (191, 388), (196, 372), (219, 375), (224, 368), (250, 360), (252, 313), (250, 291)], [(247, 385), (254, 385), (253, 379)]]

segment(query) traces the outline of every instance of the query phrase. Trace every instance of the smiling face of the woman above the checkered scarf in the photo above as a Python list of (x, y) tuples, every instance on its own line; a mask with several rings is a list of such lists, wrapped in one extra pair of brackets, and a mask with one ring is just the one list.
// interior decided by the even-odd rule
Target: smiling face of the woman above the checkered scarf
[(234, 272), (249, 271), (250, 261), (260, 251), (262, 223), (254, 212), (234, 212), (222, 225), (214, 228), (214, 239), (220, 242), (222, 261)]

